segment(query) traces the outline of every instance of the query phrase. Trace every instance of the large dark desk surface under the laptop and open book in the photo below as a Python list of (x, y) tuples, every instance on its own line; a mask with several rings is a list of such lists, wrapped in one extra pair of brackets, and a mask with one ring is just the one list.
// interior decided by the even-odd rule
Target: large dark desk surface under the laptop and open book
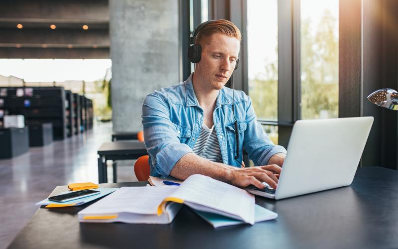
[(170, 225), (80, 224), (76, 214), (86, 206), (39, 209), (10, 248), (398, 248), (395, 170), (359, 168), (348, 187), (279, 201), (256, 197), (256, 203), (279, 217), (213, 229), (187, 207)]

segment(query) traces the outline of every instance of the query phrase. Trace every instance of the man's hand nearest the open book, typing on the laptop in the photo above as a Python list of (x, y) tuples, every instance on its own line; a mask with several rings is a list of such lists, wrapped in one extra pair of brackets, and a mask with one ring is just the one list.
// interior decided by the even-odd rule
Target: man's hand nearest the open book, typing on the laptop
[(266, 182), (272, 188), (276, 189), (281, 169), (282, 168), (276, 164), (237, 168), (231, 171), (229, 182), (237, 187), (247, 187), (252, 184), (261, 189), (264, 188), (263, 182)]

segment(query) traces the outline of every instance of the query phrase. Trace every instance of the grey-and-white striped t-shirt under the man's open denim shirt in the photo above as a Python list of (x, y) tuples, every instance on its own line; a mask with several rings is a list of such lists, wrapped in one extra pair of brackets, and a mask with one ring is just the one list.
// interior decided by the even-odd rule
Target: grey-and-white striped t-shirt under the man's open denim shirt
[(222, 163), (222, 155), (220, 145), (218, 143), (217, 133), (215, 132), (214, 125), (210, 128), (203, 123), (199, 137), (192, 149), (195, 154), (206, 158), (213, 162)]

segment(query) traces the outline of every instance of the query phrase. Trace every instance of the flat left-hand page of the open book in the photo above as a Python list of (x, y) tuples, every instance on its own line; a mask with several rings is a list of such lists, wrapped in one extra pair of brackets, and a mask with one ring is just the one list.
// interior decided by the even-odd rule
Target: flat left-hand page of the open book
[(129, 212), (157, 215), (159, 204), (177, 187), (121, 187), (79, 213), (93, 215)]

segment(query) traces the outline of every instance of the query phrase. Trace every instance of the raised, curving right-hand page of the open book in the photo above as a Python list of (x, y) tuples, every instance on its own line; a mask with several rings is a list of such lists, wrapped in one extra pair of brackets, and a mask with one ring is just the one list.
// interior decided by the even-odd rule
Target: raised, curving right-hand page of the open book
[(195, 209), (200, 205), (200, 211), (219, 211), (215, 213), (229, 217), (238, 216), (243, 221), (254, 224), (254, 196), (208, 176), (191, 175), (170, 197), (184, 200), (184, 204)]

